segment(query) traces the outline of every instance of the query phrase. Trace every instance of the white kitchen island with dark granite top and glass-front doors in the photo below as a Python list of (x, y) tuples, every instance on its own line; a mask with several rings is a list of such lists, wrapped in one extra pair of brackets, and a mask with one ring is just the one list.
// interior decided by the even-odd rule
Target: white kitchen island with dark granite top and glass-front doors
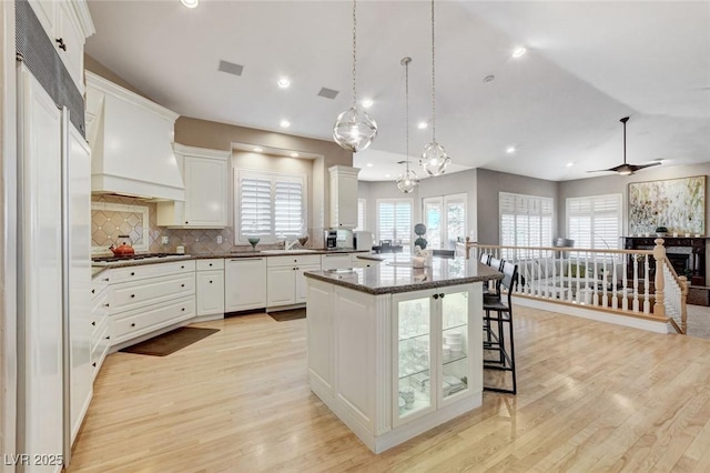
[(305, 273), (311, 390), (381, 453), (480, 406), (483, 286), (477, 261)]

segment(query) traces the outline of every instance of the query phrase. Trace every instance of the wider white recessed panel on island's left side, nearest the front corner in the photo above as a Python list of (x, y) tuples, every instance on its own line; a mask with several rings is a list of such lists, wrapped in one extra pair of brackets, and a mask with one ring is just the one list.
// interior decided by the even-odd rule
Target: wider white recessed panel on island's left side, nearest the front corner
[(335, 393), (368, 431), (375, 427), (374, 298), (335, 289)]

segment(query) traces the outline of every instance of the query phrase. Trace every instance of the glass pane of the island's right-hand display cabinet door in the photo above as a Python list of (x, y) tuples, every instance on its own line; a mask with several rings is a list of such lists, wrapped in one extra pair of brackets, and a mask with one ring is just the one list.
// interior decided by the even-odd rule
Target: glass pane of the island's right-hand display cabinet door
[(450, 292), (442, 303), (442, 399), (468, 389), (468, 291)]

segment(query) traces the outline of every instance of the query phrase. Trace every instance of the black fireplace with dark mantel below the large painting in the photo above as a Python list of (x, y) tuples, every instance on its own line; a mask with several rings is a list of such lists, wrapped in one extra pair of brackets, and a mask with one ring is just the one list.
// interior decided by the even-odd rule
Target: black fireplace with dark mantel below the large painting
[[(626, 250), (652, 250), (656, 236), (622, 236)], [(666, 256), (678, 275), (688, 278), (692, 285), (706, 285), (707, 238), (663, 238)], [(651, 262), (653, 259), (651, 258)], [(651, 264), (651, 271), (655, 270)]]

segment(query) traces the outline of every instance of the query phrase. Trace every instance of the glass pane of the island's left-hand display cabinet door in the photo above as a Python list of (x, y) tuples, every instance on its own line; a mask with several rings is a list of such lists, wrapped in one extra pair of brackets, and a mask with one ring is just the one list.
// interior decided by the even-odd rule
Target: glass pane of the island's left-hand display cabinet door
[[(422, 294), (422, 295), (419, 295)], [(394, 424), (395, 426), (434, 410), (432, 348), (432, 294), (396, 294)], [(404, 298), (410, 298), (403, 300)]]

